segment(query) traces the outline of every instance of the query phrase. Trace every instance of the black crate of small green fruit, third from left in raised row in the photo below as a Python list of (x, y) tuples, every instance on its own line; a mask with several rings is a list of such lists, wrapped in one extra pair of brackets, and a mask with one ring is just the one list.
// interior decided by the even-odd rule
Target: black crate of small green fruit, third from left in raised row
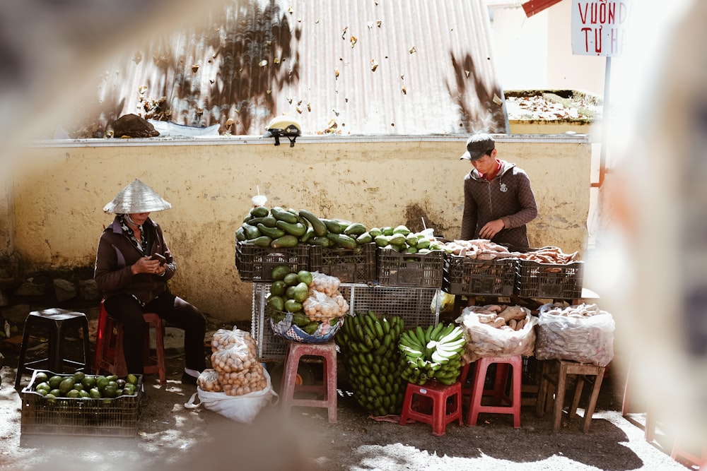
[(442, 286), (444, 252), (401, 254), (392, 249), (378, 248), (378, 282), (385, 286)]

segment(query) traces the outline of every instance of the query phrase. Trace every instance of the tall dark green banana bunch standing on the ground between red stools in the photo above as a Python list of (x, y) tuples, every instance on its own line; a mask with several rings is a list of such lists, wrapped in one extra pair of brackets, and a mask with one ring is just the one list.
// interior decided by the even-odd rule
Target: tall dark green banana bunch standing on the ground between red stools
[(373, 311), (346, 320), (336, 336), (342, 363), (356, 402), (374, 415), (399, 414), (407, 383), (400, 376), (398, 316), (378, 317)]

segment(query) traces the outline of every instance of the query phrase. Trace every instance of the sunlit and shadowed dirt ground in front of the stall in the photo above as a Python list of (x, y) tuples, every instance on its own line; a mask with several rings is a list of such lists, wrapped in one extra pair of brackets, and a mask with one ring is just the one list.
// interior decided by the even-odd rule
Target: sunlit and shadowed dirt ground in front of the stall
[[(274, 403), (251, 424), (227, 419), (203, 405), (185, 407), (196, 386), (179, 381), (183, 357), (168, 348), (168, 382), (146, 376), (147, 403), (136, 436), (125, 438), (21, 434), (21, 398), (14, 390), (16, 350), (4, 348), (0, 374), (0, 470), (685, 470), (670, 458), (670, 440), (643, 434), (645, 415), (621, 416), (623, 378), (609, 369), (588, 434), (579, 416), (551, 430), (550, 414), (522, 410), (484, 414), (476, 427), (449, 424), (433, 436), (427, 424), (376, 420), (356, 404), (340, 378), (338, 419), (325, 409)], [(25, 381), (26, 382), (26, 381)], [(23, 382), (23, 384), (25, 383)]]

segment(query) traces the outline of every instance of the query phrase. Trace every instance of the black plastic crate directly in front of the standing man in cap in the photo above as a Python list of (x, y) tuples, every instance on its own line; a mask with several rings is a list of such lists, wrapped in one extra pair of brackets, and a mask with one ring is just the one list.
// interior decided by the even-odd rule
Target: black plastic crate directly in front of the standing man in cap
[(511, 296), (517, 291), (518, 259), (445, 254), (442, 276), (442, 289), (450, 294)]

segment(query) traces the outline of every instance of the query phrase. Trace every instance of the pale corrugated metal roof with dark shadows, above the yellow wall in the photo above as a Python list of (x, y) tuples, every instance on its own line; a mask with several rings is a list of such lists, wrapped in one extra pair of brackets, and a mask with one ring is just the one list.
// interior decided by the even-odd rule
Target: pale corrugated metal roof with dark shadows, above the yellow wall
[(101, 112), (233, 135), (280, 114), (305, 134), (506, 133), (490, 38), (483, 0), (226, 1), (116, 61)]

